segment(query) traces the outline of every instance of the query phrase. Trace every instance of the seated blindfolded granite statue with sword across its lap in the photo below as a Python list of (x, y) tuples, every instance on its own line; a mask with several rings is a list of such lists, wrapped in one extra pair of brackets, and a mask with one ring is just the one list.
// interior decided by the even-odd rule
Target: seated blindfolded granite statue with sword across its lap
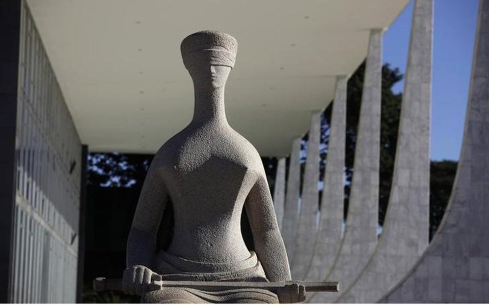
[[(278, 302), (276, 294), (258, 288), (147, 292), (152, 280), (290, 281), (260, 156), (226, 119), (224, 88), (236, 51), (232, 36), (214, 31), (182, 41), (183, 64), (194, 82), (194, 117), (156, 153), (127, 241), (123, 290), (143, 295), (143, 302)], [(169, 198), (174, 235), (163, 251), (156, 248), (156, 233)], [(256, 253), (241, 236), (243, 206)]]

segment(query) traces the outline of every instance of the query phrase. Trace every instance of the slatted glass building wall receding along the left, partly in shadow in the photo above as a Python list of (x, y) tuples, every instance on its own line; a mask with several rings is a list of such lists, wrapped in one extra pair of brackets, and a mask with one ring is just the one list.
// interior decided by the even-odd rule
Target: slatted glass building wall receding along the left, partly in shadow
[(82, 145), (29, 8), (20, 8), (9, 302), (74, 302)]

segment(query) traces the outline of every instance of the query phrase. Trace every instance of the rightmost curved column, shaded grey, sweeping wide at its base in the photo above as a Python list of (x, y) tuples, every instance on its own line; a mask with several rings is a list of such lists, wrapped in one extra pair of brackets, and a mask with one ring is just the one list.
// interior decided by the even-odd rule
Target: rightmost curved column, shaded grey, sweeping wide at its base
[(437, 234), (406, 278), (382, 300), (489, 301), (489, 1), (479, 2), (471, 88), (457, 175)]

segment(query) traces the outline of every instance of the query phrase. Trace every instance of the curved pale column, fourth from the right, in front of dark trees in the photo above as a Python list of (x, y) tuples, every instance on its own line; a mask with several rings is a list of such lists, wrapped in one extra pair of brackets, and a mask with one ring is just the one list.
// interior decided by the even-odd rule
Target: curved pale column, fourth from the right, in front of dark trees
[(314, 257), (304, 280), (320, 281), (333, 266), (341, 244), (344, 204), (345, 138), (346, 138), (346, 76), (337, 77), (335, 100), (331, 113), (328, 156), (324, 169), (321, 218)]

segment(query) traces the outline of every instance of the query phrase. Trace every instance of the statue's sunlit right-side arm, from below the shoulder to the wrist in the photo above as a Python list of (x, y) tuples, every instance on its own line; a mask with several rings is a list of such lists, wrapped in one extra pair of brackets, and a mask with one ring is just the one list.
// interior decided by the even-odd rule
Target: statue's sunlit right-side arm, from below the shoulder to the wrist
[(274, 203), (263, 172), (245, 203), (255, 252), (270, 282), (290, 281), (290, 268), (275, 216)]

